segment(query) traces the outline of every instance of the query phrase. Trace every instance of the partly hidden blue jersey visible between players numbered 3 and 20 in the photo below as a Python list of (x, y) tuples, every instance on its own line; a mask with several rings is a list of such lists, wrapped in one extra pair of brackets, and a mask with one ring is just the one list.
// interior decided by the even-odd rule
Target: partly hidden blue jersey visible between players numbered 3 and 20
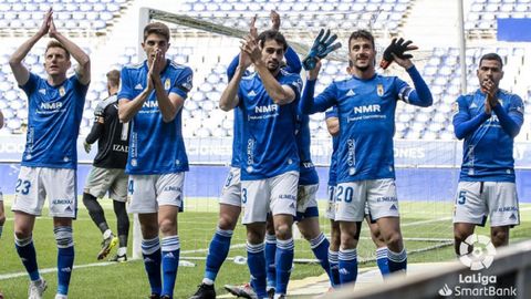
[(295, 132), (296, 147), (299, 150), (299, 158), (301, 163), (299, 173), (299, 185), (308, 186), (319, 184), (317, 172), (312, 162), (312, 155), (310, 153), (311, 135), (310, 135), (310, 117), (305, 114), (299, 114), (299, 121)]

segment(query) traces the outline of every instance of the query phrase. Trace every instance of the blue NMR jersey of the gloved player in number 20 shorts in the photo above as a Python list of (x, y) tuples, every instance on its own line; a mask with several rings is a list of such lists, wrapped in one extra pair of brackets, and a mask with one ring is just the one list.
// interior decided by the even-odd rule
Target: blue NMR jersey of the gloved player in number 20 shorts
[[(397, 100), (424, 106), (433, 101), (418, 71), (410, 68), (408, 73), (423, 96), (417, 96), (417, 92), (397, 76), (375, 74), (371, 79), (352, 76), (333, 82), (312, 102), (312, 111), (337, 106), (341, 132), (337, 184), (395, 178), (393, 135)], [(304, 99), (303, 106), (306, 103)]]

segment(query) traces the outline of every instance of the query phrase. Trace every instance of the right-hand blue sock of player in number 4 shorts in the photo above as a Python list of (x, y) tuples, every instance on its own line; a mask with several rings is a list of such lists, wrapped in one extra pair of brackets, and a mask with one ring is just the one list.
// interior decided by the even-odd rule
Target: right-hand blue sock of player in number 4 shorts
[(177, 279), (177, 269), (179, 267), (180, 244), (179, 236), (168, 236), (163, 238), (163, 292), (174, 298), (175, 280)]

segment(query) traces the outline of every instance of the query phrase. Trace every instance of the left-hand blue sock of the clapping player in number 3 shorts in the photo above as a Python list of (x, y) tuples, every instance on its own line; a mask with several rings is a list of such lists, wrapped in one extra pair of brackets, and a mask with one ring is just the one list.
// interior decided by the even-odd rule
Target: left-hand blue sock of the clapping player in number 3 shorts
[(251, 286), (258, 298), (268, 297), (263, 248), (263, 243), (257, 245), (247, 243), (247, 265), (249, 266), (249, 272), (251, 272)]

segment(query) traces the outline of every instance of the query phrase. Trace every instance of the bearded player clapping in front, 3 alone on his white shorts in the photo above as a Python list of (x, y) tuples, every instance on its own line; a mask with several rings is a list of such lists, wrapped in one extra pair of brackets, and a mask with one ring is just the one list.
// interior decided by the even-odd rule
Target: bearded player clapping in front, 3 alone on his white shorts
[[(241, 44), (235, 76), (220, 99), (220, 109), (242, 110), (241, 200), (247, 227), (248, 265), (258, 297), (267, 297), (264, 235), (268, 212), (277, 233), (275, 297), (285, 297), (293, 261), (291, 226), (296, 214), (299, 154), (295, 142), (298, 100), (302, 81), (281, 70), (288, 49), (284, 37), (267, 30)], [(254, 73), (246, 70), (254, 65)]]

